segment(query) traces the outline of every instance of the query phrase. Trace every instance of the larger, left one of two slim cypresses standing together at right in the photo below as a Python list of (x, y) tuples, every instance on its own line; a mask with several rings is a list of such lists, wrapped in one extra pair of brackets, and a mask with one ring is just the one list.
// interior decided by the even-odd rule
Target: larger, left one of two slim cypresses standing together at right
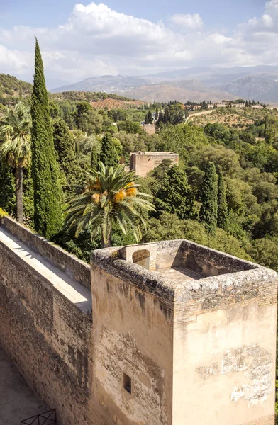
[(200, 220), (210, 233), (217, 227), (217, 174), (213, 162), (208, 162), (201, 191)]

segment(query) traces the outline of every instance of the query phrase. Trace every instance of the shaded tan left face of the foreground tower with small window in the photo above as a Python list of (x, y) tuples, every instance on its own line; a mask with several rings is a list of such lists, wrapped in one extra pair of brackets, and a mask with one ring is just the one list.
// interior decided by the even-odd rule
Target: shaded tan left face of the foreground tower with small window
[[(172, 425), (172, 303), (145, 291), (140, 277), (136, 285), (125, 268), (138, 276), (150, 272), (123, 260), (114, 270), (109, 262), (105, 254), (102, 263), (92, 255), (97, 397), (116, 424)], [(131, 393), (123, 386), (124, 373)]]

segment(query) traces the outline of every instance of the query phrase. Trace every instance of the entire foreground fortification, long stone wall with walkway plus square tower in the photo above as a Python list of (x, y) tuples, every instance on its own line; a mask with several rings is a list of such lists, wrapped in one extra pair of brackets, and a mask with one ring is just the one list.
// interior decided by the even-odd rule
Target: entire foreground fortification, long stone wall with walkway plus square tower
[(276, 321), (257, 264), (177, 240), (88, 266), (1, 220), (0, 344), (60, 425), (274, 425)]

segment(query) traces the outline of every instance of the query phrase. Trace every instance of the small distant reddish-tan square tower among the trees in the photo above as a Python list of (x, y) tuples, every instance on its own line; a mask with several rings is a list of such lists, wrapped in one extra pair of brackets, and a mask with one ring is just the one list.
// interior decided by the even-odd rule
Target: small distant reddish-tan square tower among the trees
[(130, 154), (130, 170), (138, 176), (145, 177), (149, 171), (159, 166), (163, 159), (171, 159), (172, 164), (179, 164), (179, 155), (169, 152), (138, 152)]

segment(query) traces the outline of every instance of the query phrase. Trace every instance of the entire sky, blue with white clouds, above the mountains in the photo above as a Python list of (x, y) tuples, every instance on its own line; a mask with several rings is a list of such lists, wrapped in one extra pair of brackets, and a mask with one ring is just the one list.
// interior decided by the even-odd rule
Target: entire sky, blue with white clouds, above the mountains
[(278, 0), (0, 0), (0, 72), (50, 86), (103, 74), (278, 65)]

